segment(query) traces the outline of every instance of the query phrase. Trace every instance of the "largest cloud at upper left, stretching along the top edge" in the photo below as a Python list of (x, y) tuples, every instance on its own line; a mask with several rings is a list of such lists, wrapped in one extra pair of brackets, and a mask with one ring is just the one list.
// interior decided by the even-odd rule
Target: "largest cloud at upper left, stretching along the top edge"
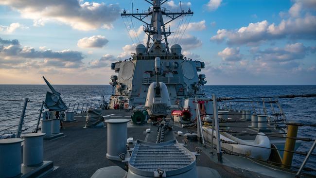
[(84, 31), (112, 28), (121, 11), (118, 4), (84, 0), (1, 0), (0, 5), (8, 5), (23, 18), (33, 19), (37, 26), (57, 20)]

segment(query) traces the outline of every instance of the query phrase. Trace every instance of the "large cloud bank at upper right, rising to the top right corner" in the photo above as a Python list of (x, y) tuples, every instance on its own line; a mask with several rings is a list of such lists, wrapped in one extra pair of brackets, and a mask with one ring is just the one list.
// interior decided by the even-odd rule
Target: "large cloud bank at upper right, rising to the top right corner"
[[(315, 0), (295, 0), (289, 9), (289, 17), (282, 19), (279, 24), (263, 20), (249, 23), (239, 29), (219, 29), (211, 37), (212, 41), (226, 41), (229, 45), (256, 44), (276, 38), (316, 39), (316, 16), (308, 9), (316, 9)], [(305, 12), (305, 15), (302, 15)], [(284, 15), (283, 15), (284, 16)]]

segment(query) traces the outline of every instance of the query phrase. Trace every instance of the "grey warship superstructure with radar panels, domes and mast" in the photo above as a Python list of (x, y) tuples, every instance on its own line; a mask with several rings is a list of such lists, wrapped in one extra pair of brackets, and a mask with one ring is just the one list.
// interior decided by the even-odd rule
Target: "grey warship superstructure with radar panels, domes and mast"
[[(168, 43), (168, 36), (172, 34), (170, 22), (182, 16), (193, 16), (193, 12), (190, 8), (170, 12), (162, 7), (166, 1), (148, 2), (152, 6), (143, 13), (128, 13), (124, 10), (121, 14), (122, 18), (137, 18), (145, 23), (143, 31), (148, 38), (146, 46), (136, 46), (131, 58), (111, 64), (111, 69), (118, 75), (111, 76), (110, 85), (115, 89), (110, 98), (110, 108), (145, 104), (148, 87), (157, 78), (154, 71), (156, 57), (160, 58), (163, 70), (159, 80), (166, 84), (172, 105), (181, 105), (185, 98), (205, 96), (201, 87), (206, 84), (205, 75), (197, 73), (204, 69), (204, 62), (186, 58), (179, 44), (169, 49)], [(164, 22), (163, 17), (168, 21)], [(149, 23), (145, 22), (147, 18), (151, 18)]]

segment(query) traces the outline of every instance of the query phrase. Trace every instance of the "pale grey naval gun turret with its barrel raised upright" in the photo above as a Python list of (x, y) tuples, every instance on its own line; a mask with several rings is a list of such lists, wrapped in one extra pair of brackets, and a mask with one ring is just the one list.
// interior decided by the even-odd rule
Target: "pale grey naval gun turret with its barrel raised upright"
[(169, 92), (166, 84), (159, 82), (161, 74), (160, 58), (155, 58), (156, 82), (150, 84), (147, 92), (145, 107), (151, 119), (164, 118), (167, 116), (167, 109), (171, 106)]

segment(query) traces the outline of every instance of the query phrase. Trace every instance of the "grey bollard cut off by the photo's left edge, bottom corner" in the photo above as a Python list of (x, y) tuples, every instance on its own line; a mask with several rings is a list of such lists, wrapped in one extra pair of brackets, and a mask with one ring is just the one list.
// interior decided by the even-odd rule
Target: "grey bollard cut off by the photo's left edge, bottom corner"
[(0, 140), (0, 178), (21, 174), (21, 142), (23, 139)]

